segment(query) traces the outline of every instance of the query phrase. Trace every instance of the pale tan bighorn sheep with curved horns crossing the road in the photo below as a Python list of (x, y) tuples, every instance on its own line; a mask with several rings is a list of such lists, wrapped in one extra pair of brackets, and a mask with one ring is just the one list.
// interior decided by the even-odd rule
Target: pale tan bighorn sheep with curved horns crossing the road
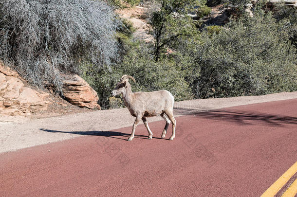
[(133, 124), (132, 133), (128, 139), (131, 141), (134, 138), (135, 128), (142, 120), (148, 130), (148, 139), (152, 138), (152, 132), (148, 127), (147, 117), (161, 115), (166, 120), (166, 125), (161, 138), (165, 138), (167, 128), (172, 123), (172, 135), (169, 140), (175, 137), (176, 120), (173, 117), (174, 97), (167, 90), (159, 90), (152, 92), (132, 92), (129, 78), (136, 83), (134, 77), (123, 75), (121, 80), (116, 84), (116, 87), (111, 91), (112, 96), (122, 94), (125, 105), (128, 107), (130, 114), (136, 117)]

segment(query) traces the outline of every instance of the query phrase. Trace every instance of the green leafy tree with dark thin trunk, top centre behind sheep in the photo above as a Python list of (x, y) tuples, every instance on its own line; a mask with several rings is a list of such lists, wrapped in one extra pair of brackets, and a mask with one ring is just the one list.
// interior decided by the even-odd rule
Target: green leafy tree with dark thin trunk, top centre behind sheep
[[(175, 49), (181, 39), (195, 36), (197, 31), (188, 13), (194, 12), (199, 0), (159, 0), (160, 9), (152, 14), (149, 21), (150, 34), (155, 38), (153, 55), (155, 61), (166, 53), (166, 47)], [(205, 3), (205, 2), (204, 2)]]

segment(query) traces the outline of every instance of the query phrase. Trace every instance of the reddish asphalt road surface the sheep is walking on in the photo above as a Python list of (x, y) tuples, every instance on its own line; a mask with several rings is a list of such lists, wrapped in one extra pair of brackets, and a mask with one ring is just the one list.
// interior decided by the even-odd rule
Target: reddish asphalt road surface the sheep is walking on
[(257, 197), (297, 161), (297, 99), (176, 120), (173, 141), (159, 121), (0, 154), (0, 196)]

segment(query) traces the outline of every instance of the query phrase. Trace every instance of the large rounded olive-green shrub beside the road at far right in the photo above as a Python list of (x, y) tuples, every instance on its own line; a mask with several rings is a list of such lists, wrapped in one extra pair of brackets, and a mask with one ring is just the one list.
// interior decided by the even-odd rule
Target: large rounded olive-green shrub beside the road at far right
[(297, 90), (297, 54), (271, 14), (232, 21), (209, 37), (198, 56), (197, 97), (261, 95)]

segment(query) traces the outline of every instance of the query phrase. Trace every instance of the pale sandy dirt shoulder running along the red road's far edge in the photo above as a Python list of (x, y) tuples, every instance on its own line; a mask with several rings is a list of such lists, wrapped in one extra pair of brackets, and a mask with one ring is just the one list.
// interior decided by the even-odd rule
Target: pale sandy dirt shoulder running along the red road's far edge
[[(297, 92), (181, 101), (175, 103), (174, 114), (177, 117), (224, 107), (295, 98), (297, 98)], [(66, 111), (65, 109), (65, 113)], [(83, 113), (78, 113), (82, 111)], [(59, 115), (57, 113), (49, 113), (47, 114), (47, 118), (43, 118), (44, 116), (0, 116), (0, 153), (71, 139), (81, 136), (80, 132), (82, 131), (109, 131), (131, 126), (134, 122), (134, 117), (130, 115), (127, 108), (95, 110), (90, 112), (90, 110), (78, 110), (74, 107), (74, 109), (70, 109), (69, 113), (71, 114), (60, 116), (57, 116)], [(150, 124), (158, 120), (163, 119), (160, 116), (148, 119)]]

